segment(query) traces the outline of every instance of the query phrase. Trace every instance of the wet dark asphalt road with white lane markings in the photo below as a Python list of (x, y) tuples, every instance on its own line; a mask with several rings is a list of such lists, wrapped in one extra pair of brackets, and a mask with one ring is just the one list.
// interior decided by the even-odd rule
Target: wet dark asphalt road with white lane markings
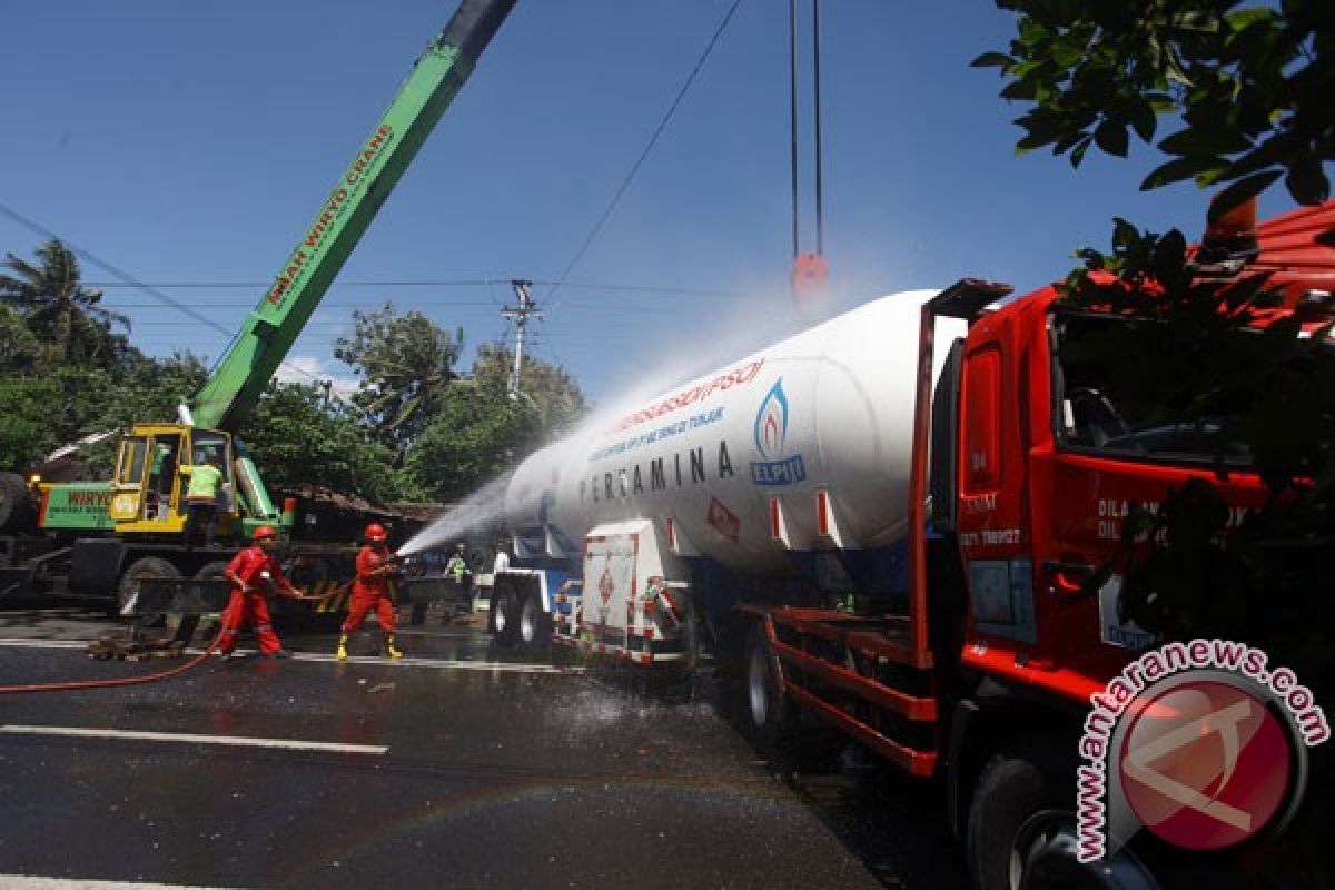
[[(87, 659), (83, 642), (113, 627), (0, 612), (0, 685), (179, 663)], [(400, 640), (403, 662), (338, 663), (332, 634), (287, 632), (287, 662), (211, 659), (162, 683), (0, 697), (0, 883), (964, 883), (939, 791), (893, 774), (776, 775), (708, 673), (643, 689), (563, 651), (498, 651), (466, 624)], [(167, 738), (51, 734), (69, 727)]]

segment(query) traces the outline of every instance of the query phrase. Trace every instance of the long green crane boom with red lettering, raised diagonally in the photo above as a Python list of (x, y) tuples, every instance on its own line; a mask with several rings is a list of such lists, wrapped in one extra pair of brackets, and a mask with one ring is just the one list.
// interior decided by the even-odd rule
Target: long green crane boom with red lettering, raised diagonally
[[(191, 399), (192, 423), (235, 432), (394, 191), (515, 0), (463, 0), (418, 59), (388, 111), (334, 184), (264, 299), (246, 319), (222, 362)], [(258, 482), (258, 476), (256, 476)], [(263, 496), (267, 502), (267, 495)], [(272, 514), (271, 504), (259, 507)]]

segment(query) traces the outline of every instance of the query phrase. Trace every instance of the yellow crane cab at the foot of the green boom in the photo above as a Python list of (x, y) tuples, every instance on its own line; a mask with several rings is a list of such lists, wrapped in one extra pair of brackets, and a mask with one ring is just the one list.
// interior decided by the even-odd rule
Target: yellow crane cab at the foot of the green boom
[(180, 424), (139, 424), (121, 436), (109, 512), (120, 534), (179, 535), (186, 526), (190, 474), (218, 459), (218, 530), (238, 518), (231, 434)]

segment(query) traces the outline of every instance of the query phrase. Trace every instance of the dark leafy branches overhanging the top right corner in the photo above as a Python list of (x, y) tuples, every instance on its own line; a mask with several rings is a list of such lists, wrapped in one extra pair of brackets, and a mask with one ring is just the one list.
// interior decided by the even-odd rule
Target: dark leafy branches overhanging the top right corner
[(1330, 195), (1335, 159), (1335, 23), (1323, 0), (1242, 7), (1239, 0), (997, 0), (1017, 13), (999, 67), (1001, 91), (1031, 108), (1020, 151), (1052, 145), (1079, 165), (1091, 147), (1125, 156), (1129, 133), (1151, 141), (1160, 115), (1181, 128), (1159, 141), (1172, 160), (1141, 188), (1184, 179), (1232, 183), (1236, 204), (1284, 177), (1300, 204)]

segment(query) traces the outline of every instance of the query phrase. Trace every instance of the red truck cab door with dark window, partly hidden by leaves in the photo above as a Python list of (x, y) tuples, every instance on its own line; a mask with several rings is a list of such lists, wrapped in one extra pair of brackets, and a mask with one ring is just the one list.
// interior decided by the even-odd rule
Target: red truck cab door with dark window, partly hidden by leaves
[[(1175, 382), (1165, 326), (1067, 310), (1048, 327), (1055, 444), (1036, 459), (1048, 488), (1036, 494), (1048, 514), (1041, 584), (1064, 615), (1053, 634), (1064, 647), (1059, 658), (1101, 675), (1153, 642), (1123, 618), (1127, 522), (1156, 512), (1192, 478), (1223, 495), (1230, 524), (1259, 506), (1263, 491), (1246, 448), (1223, 438), (1227, 416), (1196, 416), (1191, 400), (1165, 396)], [(1084, 590), (1095, 582), (1097, 591)]]

